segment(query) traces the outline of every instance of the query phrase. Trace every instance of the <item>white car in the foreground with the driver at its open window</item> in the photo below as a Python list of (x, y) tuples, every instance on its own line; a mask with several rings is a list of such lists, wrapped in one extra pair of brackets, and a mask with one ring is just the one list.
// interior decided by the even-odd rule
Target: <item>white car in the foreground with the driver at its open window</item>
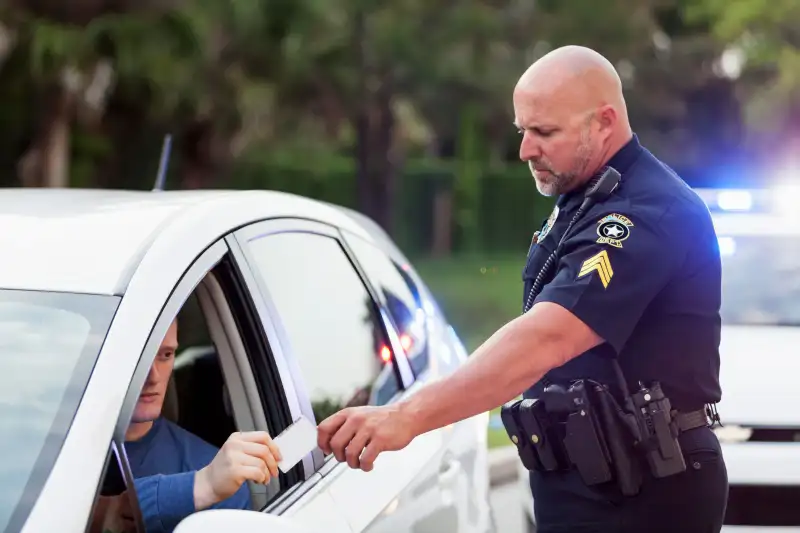
[[(83, 533), (135, 495), (124, 435), (177, 315), (163, 415), (220, 446), (396, 402), (466, 359), (370, 220), (268, 191), (0, 191), (0, 531)], [(197, 326), (197, 325), (200, 326)], [(188, 339), (188, 340), (187, 340)], [(319, 449), (180, 533), (493, 531), (488, 414), (365, 473)], [(133, 515), (144, 533), (136, 498)], [(283, 524), (283, 526), (281, 526)]]

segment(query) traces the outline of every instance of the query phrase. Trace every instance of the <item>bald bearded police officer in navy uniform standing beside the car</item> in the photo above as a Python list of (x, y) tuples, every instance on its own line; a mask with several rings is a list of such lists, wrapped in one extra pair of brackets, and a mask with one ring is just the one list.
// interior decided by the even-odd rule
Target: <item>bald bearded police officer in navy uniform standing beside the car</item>
[[(639, 143), (619, 77), (593, 50), (550, 52), (520, 78), (513, 103), (520, 157), (539, 192), (557, 196), (528, 253), (525, 312), (405, 401), (323, 421), (319, 445), (369, 471), (379, 453), (523, 392), (539, 398), (578, 379), (613, 387), (616, 358), (618, 398), (661, 384), (686, 468), (665, 477), (645, 468), (635, 495), (574, 469), (534, 469), (538, 531), (718, 532), (727, 473), (706, 408), (721, 397), (721, 266), (708, 210)], [(598, 185), (601, 176), (617, 181)], [(613, 190), (593, 196), (598, 187)]]

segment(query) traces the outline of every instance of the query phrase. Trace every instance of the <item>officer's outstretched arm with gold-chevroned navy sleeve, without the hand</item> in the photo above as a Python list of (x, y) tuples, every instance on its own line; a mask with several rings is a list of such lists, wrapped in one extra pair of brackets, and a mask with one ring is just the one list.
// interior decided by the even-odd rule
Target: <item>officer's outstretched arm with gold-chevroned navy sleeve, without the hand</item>
[(419, 424), (417, 434), (502, 405), (599, 344), (619, 352), (686, 257), (686, 221), (673, 220), (669, 210), (646, 215), (611, 212), (581, 221), (532, 309), (492, 335), (463, 368), (401, 404)]

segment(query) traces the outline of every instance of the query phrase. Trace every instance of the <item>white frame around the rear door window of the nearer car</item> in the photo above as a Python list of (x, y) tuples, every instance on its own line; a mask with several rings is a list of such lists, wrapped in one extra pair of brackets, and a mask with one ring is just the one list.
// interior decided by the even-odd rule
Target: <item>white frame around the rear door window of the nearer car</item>
[[(400, 345), (400, 339), (397, 335), (397, 331), (394, 328), (393, 322), (390, 320), (386, 309), (382, 305), (380, 298), (375, 292), (375, 288), (369, 280), (369, 277), (366, 275), (362, 266), (356, 260), (352, 249), (345, 241), (341, 229), (337, 226), (319, 220), (281, 217), (255, 222), (240, 228), (232, 235), (232, 240), (235, 240), (236, 244), (235, 247), (231, 245), (231, 248), (235, 250), (234, 256), (238, 257), (240, 261), (242, 261), (243, 265), (247, 265), (249, 274), (245, 277), (247, 282), (252, 283), (253, 289), (251, 290), (258, 291), (261, 295), (263, 316), (268, 317), (265, 320), (269, 322), (269, 328), (272, 330), (270, 333), (268, 333), (268, 336), (271, 336), (275, 342), (280, 344), (280, 352), (283, 356), (283, 366), (286, 369), (285, 376), (286, 379), (291, 381), (291, 385), (288, 388), (286, 383), (284, 383), (284, 388), (287, 388), (287, 395), (288, 389), (293, 390), (296, 394), (296, 401), (299, 405), (298, 414), (302, 412), (303, 416), (307, 417), (309, 420), (314, 420), (310, 396), (305, 386), (305, 381), (299, 362), (290, 347), (289, 337), (283, 326), (282, 318), (278, 313), (277, 307), (275, 306), (270, 291), (266, 286), (265, 280), (259, 273), (258, 265), (247, 248), (248, 243), (252, 240), (285, 233), (303, 233), (318, 235), (324, 238), (332, 238), (341, 246), (345, 257), (350, 261), (350, 264), (355, 270), (356, 275), (360, 278), (364, 288), (369, 293), (372, 303), (375, 306), (377, 315), (380, 317), (380, 325), (383, 328), (386, 339), (390, 344), (392, 353), (395, 354), (394, 364), (397, 365), (399, 371), (401, 386), (398, 393), (390, 400), (389, 403), (398, 401), (405, 395), (408, 388), (413, 385), (414, 374), (411, 370), (409, 361), (405, 358), (405, 354)], [(324, 477), (330, 473), (336, 467), (336, 465), (339, 464), (335, 461), (335, 458), (332, 455), (328, 456), (327, 458), (324, 457), (319, 449), (315, 449), (309, 455), (313, 457), (313, 470), (311, 472), (308, 472), (307, 470), (309, 479), (311, 479), (314, 473), (320, 474)], [(307, 484), (308, 489), (310, 489), (311, 486), (316, 483), (316, 481)], [(305, 492), (305, 490), (303, 492)], [(299, 496), (300, 494), (298, 494), (298, 497)]]

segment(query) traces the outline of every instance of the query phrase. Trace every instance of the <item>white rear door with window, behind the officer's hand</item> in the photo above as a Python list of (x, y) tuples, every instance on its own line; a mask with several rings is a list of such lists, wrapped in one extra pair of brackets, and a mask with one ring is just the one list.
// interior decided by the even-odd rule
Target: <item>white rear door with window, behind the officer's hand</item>
[[(294, 389), (315, 422), (348, 405), (397, 401), (414, 386), (401, 340), (336, 228), (285, 219), (244, 228), (236, 239), (281, 325)], [(383, 530), (388, 516), (392, 531), (457, 530), (439, 515), (439, 479), (452, 465), (442, 457), (448, 431), (383, 454), (369, 473), (317, 455), (317, 473), (354, 532)]]

